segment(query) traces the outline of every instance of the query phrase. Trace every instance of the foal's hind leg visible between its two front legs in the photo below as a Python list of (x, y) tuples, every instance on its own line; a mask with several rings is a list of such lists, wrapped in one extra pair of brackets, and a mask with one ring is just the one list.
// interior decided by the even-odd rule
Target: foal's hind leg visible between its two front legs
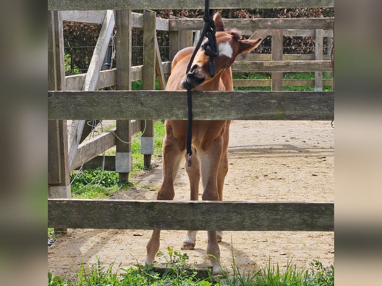
[[(191, 201), (197, 201), (199, 198), (200, 161), (195, 148), (192, 150), (191, 167), (188, 166), (187, 160), (188, 156), (186, 154), (186, 171), (190, 179), (190, 199)], [(187, 232), (181, 248), (182, 250), (193, 250), (195, 248), (196, 233), (196, 230), (189, 230)]]

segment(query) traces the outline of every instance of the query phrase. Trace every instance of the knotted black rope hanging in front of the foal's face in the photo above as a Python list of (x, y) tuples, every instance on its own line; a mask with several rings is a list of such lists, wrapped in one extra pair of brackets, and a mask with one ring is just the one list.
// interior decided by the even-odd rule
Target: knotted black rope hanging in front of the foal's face
[[(195, 49), (193, 50), (193, 53), (191, 55), (190, 62), (187, 66), (186, 70), (186, 75), (189, 73), (191, 70), (191, 64), (193, 62), (193, 59), (195, 58), (195, 55), (197, 51), (200, 48), (201, 42), (204, 38), (204, 36), (208, 39), (203, 44), (203, 49), (204, 53), (209, 56), (209, 74), (211, 77), (215, 76), (215, 62), (213, 60), (214, 57), (218, 55), (218, 50), (217, 50), (217, 44), (216, 44), (216, 26), (215, 22), (213, 21), (212, 18), (212, 9), (209, 9), (209, 2), (208, 0), (204, 0), (205, 8), (204, 8), (204, 26), (203, 29), (200, 33), (199, 40), (197, 41), (197, 44), (195, 46)], [(208, 11), (208, 14), (206, 13)], [(186, 78), (187, 79), (187, 78)], [(186, 80), (187, 82), (187, 80)], [(191, 150), (191, 141), (192, 141), (192, 95), (191, 95), (191, 85), (187, 83), (187, 105), (188, 105), (188, 129), (187, 129), (187, 143), (186, 143), (186, 150), (188, 154), (188, 166), (191, 167), (191, 155), (192, 155), (192, 150)]]

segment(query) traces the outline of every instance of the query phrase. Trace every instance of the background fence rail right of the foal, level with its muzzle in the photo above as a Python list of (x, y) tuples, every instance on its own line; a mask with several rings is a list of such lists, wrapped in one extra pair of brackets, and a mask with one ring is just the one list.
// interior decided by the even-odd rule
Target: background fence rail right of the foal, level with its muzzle
[(315, 72), (330, 71), (330, 61), (235, 61), (232, 72)]

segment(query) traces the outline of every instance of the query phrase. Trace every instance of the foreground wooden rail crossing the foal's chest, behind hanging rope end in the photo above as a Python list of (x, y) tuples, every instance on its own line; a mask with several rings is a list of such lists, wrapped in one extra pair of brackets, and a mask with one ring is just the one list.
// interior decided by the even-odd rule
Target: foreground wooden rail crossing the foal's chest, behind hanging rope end
[[(331, 120), (334, 114), (334, 92), (194, 91), (192, 101), (195, 120)], [(51, 120), (187, 120), (187, 115), (186, 91), (48, 92)]]

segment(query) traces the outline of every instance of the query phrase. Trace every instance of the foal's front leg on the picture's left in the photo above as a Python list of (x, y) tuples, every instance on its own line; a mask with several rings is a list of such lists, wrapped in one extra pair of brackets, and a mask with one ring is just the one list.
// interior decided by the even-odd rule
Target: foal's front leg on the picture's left
[[(174, 181), (178, 173), (183, 153), (184, 150), (179, 148), (177, 141), (173, 137), (165, 137), (163, 143), (163, 181), (158, 190), (157, 200), (174, 199)], [(160, 236), (160, 230), (153, 230), (151, 238), (146, 246), (147, 256), (144, 263), (152, 264), (154, 262), (160, 247)]]

